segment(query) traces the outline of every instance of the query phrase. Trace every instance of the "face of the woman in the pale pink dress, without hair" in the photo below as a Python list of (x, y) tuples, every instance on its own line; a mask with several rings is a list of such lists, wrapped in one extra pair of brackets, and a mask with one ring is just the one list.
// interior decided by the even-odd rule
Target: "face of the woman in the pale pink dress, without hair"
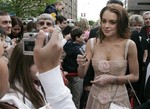
[(117, 36), (117, 15), (106, 10), (102, 16), (101, 27), (105, 37)]

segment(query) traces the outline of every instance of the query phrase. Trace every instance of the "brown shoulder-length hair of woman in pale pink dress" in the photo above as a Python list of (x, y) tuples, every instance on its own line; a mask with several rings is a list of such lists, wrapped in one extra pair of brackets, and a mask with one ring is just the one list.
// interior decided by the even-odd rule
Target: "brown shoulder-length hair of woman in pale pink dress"
[[(113, 12), (117, 15), (117, 30), (118, 35), (122, 38), (129, 38), (130, 37), (130, 30), (128, 27), (129, 19), (127, 11), (118, 4), (109, 4), (105, 6), (100, 13), (100, 19), (102, 20), (103, 14), (106, 10), (109, 10), (110, 12)], [(99, 35), (97, 37), (100, 37), (101, 41), (104, 39), (105, 35), (102, 32), (102, 29), (100, 28)]]

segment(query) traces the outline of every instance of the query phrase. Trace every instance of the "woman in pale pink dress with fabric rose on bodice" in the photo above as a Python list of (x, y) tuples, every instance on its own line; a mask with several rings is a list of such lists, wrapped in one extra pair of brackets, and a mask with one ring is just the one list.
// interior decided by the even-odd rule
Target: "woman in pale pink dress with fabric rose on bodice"
[(136, 45), (129, 39), (127, 12), (110, 4), (102, 9), (100, 21), (99, 34), (88, 40), (85, 55), (77, 58), (80, 77), (85, 76), (90, 62), (95, 72), (86, 109), (109, 109), (111, 102), (130, 108), (125, 84), (128, 79), (138, 80), (139, 68)]

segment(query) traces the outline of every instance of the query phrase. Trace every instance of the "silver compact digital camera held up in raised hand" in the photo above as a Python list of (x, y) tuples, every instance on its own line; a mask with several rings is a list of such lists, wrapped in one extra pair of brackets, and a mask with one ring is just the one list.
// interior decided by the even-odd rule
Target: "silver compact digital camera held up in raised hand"
[[(35, 39), (37, 37), (38, 33), (24, 33), (23, 34), (23, 54), (24, 55), (33, 55), (33, 50), (35, 46)], [(43, 46), (49, 41), (51, 33), (45, 33), (46, 38), (43, 43)]]

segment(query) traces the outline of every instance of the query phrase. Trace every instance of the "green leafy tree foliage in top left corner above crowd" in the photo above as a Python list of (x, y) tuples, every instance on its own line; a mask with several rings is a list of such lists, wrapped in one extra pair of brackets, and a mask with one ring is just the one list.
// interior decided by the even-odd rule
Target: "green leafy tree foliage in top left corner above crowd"
[(15, 14), (18, 17), (36, 17), (48, 4), (56, 0), (0, 0), (0, 10)]

